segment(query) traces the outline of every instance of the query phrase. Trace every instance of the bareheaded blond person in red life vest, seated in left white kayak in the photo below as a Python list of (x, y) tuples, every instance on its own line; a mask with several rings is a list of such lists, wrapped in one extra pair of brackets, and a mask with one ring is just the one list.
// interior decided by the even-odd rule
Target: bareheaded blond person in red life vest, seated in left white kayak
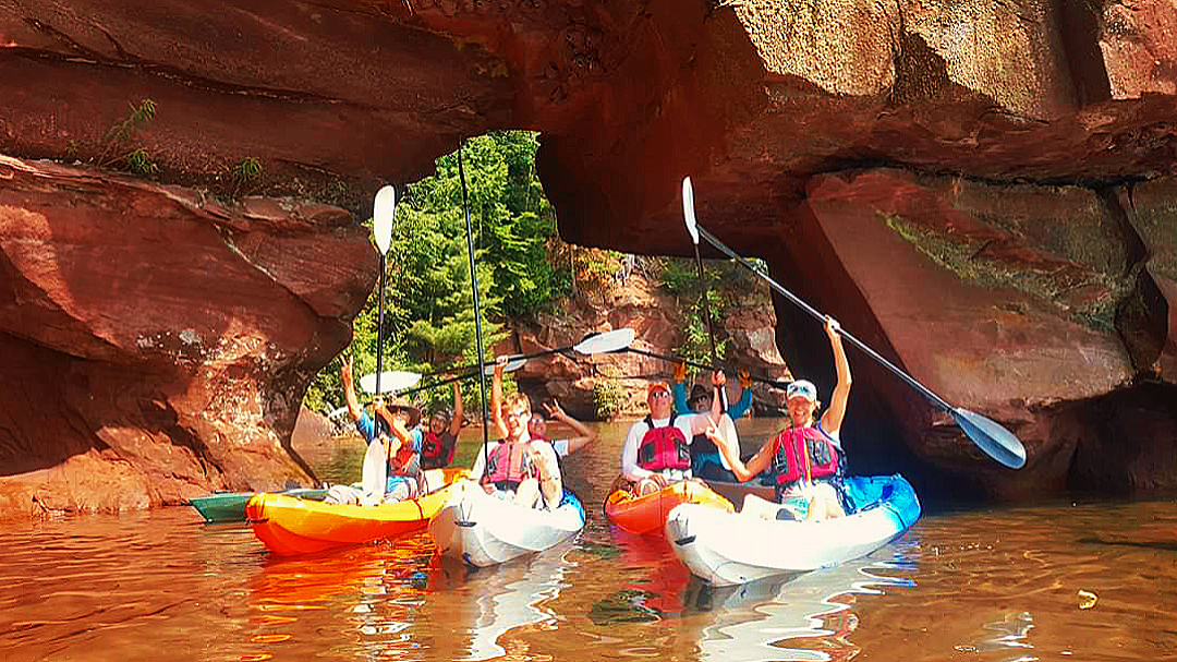
[(533, 443), (527, 436), (531, 400), (524, 393), (503, 399), (503, 368), (507, 356), (494, 362), (491, 382), (491, 424), (501, 437), (487, 442), (474, 458), (471, 476), (478, 477), (487, 494), (498, 491), (516, 503), (556, 510), (564, 499), (564, 479), (552, 444)]

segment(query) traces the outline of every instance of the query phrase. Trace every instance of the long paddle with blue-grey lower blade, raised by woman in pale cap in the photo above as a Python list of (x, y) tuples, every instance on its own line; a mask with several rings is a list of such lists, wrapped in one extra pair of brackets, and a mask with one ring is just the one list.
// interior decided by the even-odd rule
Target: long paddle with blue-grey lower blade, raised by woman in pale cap
[[(684, 193), (690, 186), (690, 179), (691, 178), (687, 177), (686, 179), (683, 180)], [(693, 194), (690, 201), (691, 205), (694, 204)], [(685, 196), (683, 204), (684, 206), (687, 204)], [(816, 309), (803, 302), (799, 297), (797, 297), (789, 290), (785, 290), (767, 273), (764, 273), (759, 269), (757, 269), (756, 265), (742, 258), (740, 256), (736, 254), (736, 252), (725, 246), (723, 241), (716, 239), (713, 234), (711, 234), (703, 227), (699, 227), (694, 220), (693, 210), (691, 211), (691, 213), (686, 216), (686, 231), (691, 233), (692, 238), (701, 236), (704, 239), (707, 240), (709, 244), (718, 249), (720, 252), (723, 252), (731, 259), (739, 263), (744, 269), (747, 269), (752, 273), (763, 278), (773, 290), (780, 293), (780, 296), (797, 304), (803, 311), (807, 312), (810, 316), (822, 322), (825, 320), (824, 315), (822, 315)], [(696, 239), (696, 246), (698, 246), (697, 239)], [(893, 363), (883, 358), (883, 356), (880, 356), (878, 352), (866, 346), (866, 344), (864, 344), (862, 340), (847, 333), (844, 329), (839, 332), (842, 333), (843, 338), (845, 338), (852, 345), (865, 352), (866, 356), (873, 358), (891, 372), (895, 372), (897, 376), (899, 376), (899, 378), (906, 382), (907, 385), (916, 389), (917, 391), (920, 392), (920, 395), (931, 400), (933, 404), (938, 405), (944, 411), (952, 415), (952, 418), (955, 418), (957, 424), (960, 425), (960, 429), (964, 430), (964, 433), (967, 435), (969, 438), (972, 439), (973, 443), (976, 443), (980, 450), (985, 451), (986, 455), (989, 455), (997, 462), (1011, 469), (1020, 469), (1023, 465), (1025, 465), (1026, 449), (1025, 446), (1022, 445), (1022, 442), (1013, 435), (1013, 432), (1010, 432), (1005, 428), (1000, 426), (998, 423), (989, 418), (985, 418), (984, 416), (975, 411), (969, 411), (967, 409), (950, 404), (947, 400), (932, 392), (931, 389), (920, 384), (913, 377), (911, 377), (910, 375), (900, 370), (898, 366), (896, 366)]]

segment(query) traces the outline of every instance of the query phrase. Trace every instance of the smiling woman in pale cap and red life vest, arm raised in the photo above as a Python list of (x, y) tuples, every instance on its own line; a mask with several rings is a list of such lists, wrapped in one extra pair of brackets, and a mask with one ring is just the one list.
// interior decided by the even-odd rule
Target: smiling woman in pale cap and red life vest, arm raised
[(716, 426), (707, 429), (707, 437), (719, 448), (737, 478), (747, 481), (765, 469), (772, 475), (778, 503), (747, 495), (743, 512), (766, 518), (780, 517), (786, 497), (798, 496), (805, 499), (806, 521), (845, 515), (837, 484), (845, 472), (840, 432), (850, 398), (851, 378), (839, 329), (837, 320), (829, 316), (825, 318), (825, 333), (833, 350), (838, 385), (834, 386), (830, 406), (820, 421), (814, 423), (814, 415), (820, 406), (817, 386), (806, 379), (798, 379), (785, 391), (789, 426), (767, 439), (747, 463), (740, 462), (737, 441), (726, 438)]

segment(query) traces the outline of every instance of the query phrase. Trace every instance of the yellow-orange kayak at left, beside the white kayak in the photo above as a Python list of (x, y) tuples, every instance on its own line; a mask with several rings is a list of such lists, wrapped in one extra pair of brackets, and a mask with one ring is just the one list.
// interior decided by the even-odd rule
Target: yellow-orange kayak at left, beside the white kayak
[(259, 494), (246, 505), (246, 516), (254, 535), (270, 551), (282, 556), (312, 554), (424, 528), (450, 498), (453, 482), (465, 476), (465, 469), (426, 471), (430, 491), (417, 498), (379, 505), (321, 503), (281, 494)]

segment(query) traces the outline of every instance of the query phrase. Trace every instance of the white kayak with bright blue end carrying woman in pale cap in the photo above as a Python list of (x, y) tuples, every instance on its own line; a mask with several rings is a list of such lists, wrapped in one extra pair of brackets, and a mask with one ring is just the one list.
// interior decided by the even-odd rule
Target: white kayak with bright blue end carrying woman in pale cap
[(683, 504), (666, 539), (692, 574), (714, 585), (805, 572), (865, 556), (919, 518), (919, 499), (902, 476), (844, 479), (853, 514), (822, 522), (765, 519)]

